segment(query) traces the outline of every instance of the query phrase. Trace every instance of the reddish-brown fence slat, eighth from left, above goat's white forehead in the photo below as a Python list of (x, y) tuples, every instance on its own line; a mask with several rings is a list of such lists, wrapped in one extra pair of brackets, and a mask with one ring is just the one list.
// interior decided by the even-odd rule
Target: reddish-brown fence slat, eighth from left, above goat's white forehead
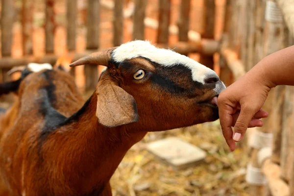
[(169, 26), (171, 22), (171, 0), (159, 0), (157, 43), (169, 43)]

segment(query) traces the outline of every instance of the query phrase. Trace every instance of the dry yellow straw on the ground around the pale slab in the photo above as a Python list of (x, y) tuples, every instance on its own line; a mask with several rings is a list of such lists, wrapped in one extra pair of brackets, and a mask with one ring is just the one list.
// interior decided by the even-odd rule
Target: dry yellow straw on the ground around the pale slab
[[(162, 163), (145, 149), (149, 142), (176, 136), (204, 149), (205, 162), (182, 171)], [(114, 196), (247, 196), (242, 149), (230, 152), (219, 121), (148, 133), (125, 155), (111, 179)]]

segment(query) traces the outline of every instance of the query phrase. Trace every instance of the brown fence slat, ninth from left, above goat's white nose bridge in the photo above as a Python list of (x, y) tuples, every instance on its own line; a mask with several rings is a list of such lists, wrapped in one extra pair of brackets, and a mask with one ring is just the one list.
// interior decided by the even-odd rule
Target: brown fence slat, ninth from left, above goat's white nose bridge
[[(188, 32), (190, 25), (191, 0), (182, 0), (180, 5), (180, 16), (178, 18), (179, 41), (188, 42)], [(184, 54), (188, 55), (188, 54)]]

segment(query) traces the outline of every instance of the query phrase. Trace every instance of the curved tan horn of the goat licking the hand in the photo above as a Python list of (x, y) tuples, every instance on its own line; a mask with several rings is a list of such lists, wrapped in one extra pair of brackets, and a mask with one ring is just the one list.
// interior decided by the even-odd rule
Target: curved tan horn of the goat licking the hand
[(103, 65), (107, 66), (108, 61), (111, 58), (110, 52), (113, 51), (118, 47), (114, 47), (111, 49), (105, 49), (102, 51), (94, 52), (87, 56), (84, 56), (73, 63), (70, 64), (70, 67), (79, 66), (79, 65), (86, 65), (86, 64), (96, 64), (96, 65)]

